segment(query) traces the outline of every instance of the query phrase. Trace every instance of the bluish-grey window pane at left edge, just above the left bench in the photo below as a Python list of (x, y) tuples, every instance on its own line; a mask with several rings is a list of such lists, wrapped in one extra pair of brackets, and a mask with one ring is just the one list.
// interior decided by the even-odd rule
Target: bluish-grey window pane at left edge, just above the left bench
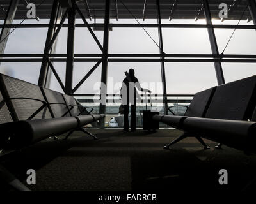
[(40, 68), (41, 62), (1, 62), (0, 73), (37, 84)]

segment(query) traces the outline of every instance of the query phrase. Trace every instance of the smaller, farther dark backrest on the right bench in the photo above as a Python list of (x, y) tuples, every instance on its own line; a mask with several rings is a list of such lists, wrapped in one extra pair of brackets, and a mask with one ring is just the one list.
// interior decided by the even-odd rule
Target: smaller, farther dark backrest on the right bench
[(206, 89), (196, 93), (189, 105), (189, 108), (186, 110), (185, 116), (204, 117), (215, 90), (216, 87), (212, 87), (211, 89)]

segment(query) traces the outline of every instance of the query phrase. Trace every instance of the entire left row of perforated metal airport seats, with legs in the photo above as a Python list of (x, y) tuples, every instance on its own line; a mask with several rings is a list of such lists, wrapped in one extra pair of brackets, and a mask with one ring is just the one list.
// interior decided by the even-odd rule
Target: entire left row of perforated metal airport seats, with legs
[[(66, 100), (67, 99), (67, 100)], [(86, 112), (88, 115), (81, 115)], [(33, 143), (83, 130), (83, 126), (100, 120), (104, 115), (91, 115), (73, 96), (38, 87), (38, 85), (0, 74), (0, 150), (17, 150)], [(67, 138), (67, 137), (66, 137)], [(1, 155), (0, 155), (1, 156)], [(5, 175), (3, 177), (3, 175)], [(8, 175), (8, 176), (7, 176)], [(0, 177), (13, 187), (27, 191), (19, 180), (0, 166)]]

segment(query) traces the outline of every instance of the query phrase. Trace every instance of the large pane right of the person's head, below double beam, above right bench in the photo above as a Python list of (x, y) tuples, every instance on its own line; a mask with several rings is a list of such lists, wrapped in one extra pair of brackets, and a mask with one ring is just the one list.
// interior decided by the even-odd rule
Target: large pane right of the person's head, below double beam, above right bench
[(213, 63), (165, 63), (168, 94), (195, 94), (217, 85)]

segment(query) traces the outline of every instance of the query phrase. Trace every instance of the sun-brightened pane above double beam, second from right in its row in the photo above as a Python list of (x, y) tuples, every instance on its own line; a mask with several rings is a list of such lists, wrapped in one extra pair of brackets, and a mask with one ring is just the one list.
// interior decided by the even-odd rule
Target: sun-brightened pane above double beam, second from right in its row
[(163, 44), (166, 54), (211, 54), (207, 29), (164, 28)]

